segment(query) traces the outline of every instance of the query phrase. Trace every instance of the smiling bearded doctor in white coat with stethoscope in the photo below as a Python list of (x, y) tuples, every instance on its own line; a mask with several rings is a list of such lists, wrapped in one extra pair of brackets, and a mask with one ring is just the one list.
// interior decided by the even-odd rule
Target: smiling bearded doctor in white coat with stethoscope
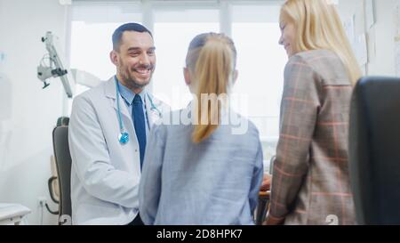
[(116, 76), (74, 99), (69, 122), (74, 224), (142, 224), (139, 182), (147, 135), (169, 110), (145, 89), (156, 67), (148, 28), (116, 28)]

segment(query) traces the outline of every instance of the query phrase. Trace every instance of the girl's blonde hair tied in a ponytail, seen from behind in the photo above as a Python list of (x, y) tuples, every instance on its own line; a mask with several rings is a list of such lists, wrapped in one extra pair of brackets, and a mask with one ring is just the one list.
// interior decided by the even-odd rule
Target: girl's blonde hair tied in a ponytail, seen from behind
[(188, 47), (186, 66), (196, 82), (196, 114), (192, 142), (208, 138), (220, 123), (220, 99), (205, 97), (227, 94), (236, 66), (236, 48), (228, 36), (204, 33), (196, 36)]

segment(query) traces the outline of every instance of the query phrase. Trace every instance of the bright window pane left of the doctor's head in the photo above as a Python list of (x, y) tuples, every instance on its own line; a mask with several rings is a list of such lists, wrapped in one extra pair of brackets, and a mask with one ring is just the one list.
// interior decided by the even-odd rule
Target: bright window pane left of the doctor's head
[[(108, 80), (116, 73), (109, 60), (112, 50), (111, 36), (114, 30), (128, 21), (141, 23), (139, 4), (77, 4), (72, 9), (70, 67), (80, 69)], [(76, 94), (88, 90), (76, 84)], [(72, 100), (68, 100), (68, 114)]]

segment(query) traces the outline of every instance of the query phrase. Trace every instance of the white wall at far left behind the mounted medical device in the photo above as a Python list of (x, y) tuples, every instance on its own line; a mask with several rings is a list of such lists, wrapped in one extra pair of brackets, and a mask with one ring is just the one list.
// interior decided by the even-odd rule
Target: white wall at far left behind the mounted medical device
[[(37, 198), (51, 201), (52, 128), (64, 104), (60, 79), (43, 90), (36, 77), (46, 53), (41, 37), (52, 30), (65, 46), (65, 29), (66, 7), (58, 0), (0, 0), (0, 203), (29, 207), (29, 224), (40, 223)], [(57, 219), (44, 209), (43, 223)]]

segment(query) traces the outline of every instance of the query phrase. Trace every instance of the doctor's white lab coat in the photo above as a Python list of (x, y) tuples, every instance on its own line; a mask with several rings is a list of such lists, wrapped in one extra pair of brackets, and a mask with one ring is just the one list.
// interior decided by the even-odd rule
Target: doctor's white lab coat
[[(72, 158), (71, 203), (74, 224), (126, 224), (139, 212), (140, 150), (132, 117), (121, 95), (121, 118), (129, 142), (118, 141), (116, 83), (110, 78), (76, 96), (69, 121)], [(169, 110), (145, 95), (151, 127)]]

